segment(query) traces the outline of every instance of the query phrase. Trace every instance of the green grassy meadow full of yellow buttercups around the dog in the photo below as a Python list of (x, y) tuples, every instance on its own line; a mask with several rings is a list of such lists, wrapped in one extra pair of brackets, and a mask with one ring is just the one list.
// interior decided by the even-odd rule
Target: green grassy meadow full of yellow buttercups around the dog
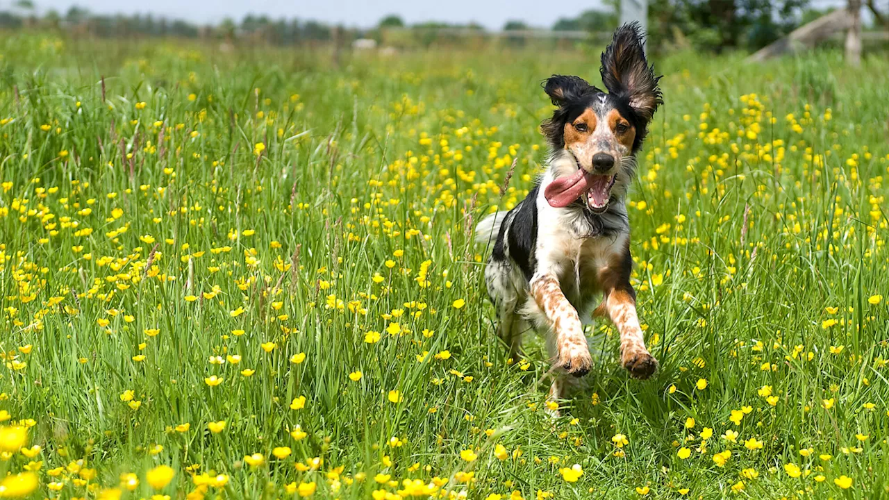
[(883, 53), (654, 56), (660, 371), (507, 359), (474, 226), (601, 48), (0, 35), (0, 497), (889, 497)]

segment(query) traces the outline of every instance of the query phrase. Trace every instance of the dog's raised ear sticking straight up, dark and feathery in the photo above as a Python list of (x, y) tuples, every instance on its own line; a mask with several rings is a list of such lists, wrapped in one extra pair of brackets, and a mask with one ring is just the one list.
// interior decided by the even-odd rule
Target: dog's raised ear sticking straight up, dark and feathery
[(645, 35), (639, 23), (632, 22), (617, 28), (605, 52), (602, 52), (602, 83), (618, 99), (625, 99), (629, 107), (646, 122), (663, 104), (661, 88), (654, 66), (648, 66), (643, 42)]

